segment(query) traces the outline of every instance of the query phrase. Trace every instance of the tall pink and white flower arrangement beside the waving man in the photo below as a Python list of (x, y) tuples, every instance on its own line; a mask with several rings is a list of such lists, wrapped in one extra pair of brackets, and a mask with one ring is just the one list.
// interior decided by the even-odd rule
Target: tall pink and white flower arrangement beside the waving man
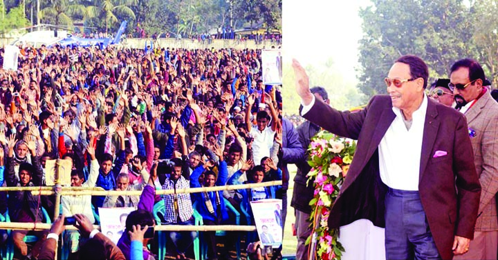
[(339, 230), (327, 226), (327, 219), (340, 186), (353, 161), (356, 141), (344, 139), (330, 132), (318, 132), (311, 139), (308, 163), (313, 169), (308, 173), (308, 182), (313, 181), (315, 197), (310, 201), (313, 236), (311, 250), (317, 259), (341, 259), (344, 248), (338, 241)]

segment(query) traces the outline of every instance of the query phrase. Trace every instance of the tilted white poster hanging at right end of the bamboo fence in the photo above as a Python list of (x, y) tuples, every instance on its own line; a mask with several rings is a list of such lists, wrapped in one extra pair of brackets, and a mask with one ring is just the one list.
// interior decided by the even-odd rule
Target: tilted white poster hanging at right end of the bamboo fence
[(261, 244), (278, 248), (282, 244), (282, 199), (251, 201), (251, 208)]

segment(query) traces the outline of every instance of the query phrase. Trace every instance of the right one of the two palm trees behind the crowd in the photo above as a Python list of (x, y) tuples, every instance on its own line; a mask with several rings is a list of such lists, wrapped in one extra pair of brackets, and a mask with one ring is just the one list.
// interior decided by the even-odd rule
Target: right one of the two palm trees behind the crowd
[(138, 0), (101, 0), (100, 5), (96, 6), (96, 8), (98, 8), (100, 17), (105, 19), (106, 34), (110, 25), (118, 23), (116, 15), (129, 16), (136, 19), (135, 13), (129, 7), (136, 6), (137, 3)]

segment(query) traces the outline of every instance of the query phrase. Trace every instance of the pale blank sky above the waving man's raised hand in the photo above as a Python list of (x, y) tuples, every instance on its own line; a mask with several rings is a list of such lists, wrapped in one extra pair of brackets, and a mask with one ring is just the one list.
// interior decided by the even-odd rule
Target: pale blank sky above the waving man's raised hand
[(332, 59), (345, 80), (356, 82), (362, 37), (358, 11), (369, 5), (368, 0), (283, 0), (284, 62), (295, 58), (306, 66)]

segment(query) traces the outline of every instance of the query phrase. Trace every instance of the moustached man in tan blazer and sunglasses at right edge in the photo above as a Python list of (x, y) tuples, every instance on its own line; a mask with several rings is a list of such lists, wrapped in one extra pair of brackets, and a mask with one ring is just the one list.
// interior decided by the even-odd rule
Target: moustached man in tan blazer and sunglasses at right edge
[(468, 122), (468, 134), (474, 151), (474, 163), (482, 191), (479, 201), (474, 240), (470, 251), (455, 259), (496, 259), (498, 248), (498, 103), (485, 88), (486, 77), (481, 65), (472, 59), (461, 59), (450, 69), (449, 87), (456, 108)]

